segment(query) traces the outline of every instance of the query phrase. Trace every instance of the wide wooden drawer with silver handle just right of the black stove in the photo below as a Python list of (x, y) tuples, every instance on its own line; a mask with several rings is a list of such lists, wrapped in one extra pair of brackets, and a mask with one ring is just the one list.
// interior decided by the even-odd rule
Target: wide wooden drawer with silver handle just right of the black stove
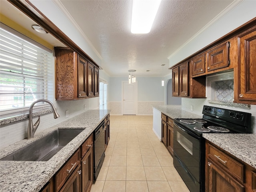
[(211, 145), (209, 145), (208, 155), (229, 174), (244, 183), (245, 166), (243, 164), (234, 160), (232, 157), (224, 154), (223, 152)]

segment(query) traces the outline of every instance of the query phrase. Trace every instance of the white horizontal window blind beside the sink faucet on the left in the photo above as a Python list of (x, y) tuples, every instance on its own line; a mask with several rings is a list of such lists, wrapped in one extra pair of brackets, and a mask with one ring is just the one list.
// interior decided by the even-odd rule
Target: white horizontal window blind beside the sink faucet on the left
[[(53, 95), (52, 53), (0, 27), (0, 110), (24, 111)], [(32, 41), (32, 40), (31, 40)], [(51, 86), (49, 86), (51, 84)], [(2, 113), (5, 111), (4, 113)], [(7, 112), (8, 111), (8, 112)]]

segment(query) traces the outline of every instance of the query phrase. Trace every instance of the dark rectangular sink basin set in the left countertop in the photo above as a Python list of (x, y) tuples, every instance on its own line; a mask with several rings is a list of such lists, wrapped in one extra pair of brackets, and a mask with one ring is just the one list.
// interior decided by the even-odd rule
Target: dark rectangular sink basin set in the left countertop
[(83, 130), (57, 129), (0, 160), (48, 161)]

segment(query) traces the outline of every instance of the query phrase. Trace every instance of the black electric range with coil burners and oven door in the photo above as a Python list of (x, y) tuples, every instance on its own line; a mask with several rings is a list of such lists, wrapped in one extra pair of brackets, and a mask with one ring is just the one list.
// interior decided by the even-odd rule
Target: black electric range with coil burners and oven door
[(204, 192), (203, 133), (252, 133), (252, 114), (204, 106), (202, 119), (174, 119), (173, 164), (191, 192)]

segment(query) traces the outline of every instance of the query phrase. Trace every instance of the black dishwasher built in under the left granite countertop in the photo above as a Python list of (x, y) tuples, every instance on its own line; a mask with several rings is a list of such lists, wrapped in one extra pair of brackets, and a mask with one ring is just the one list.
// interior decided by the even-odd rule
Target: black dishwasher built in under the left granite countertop
[(105, 158), (105, 122), (103, 121), (93, 133), (94, 138), (94, 181), (96, 181)]

